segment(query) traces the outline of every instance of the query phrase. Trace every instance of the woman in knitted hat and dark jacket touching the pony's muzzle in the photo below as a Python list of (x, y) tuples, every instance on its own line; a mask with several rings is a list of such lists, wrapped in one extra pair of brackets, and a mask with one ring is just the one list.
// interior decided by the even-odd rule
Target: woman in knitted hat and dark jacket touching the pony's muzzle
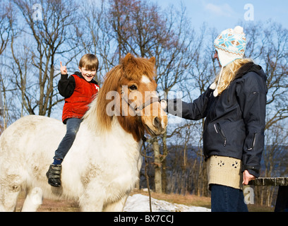
[(251, 59), (243, 58), (243, 28), (222, 31), (214, 47), (221, 66), (214, 83), (191, 103), (168, 100), (167, 112), (184, 119), (205, 118), (203, 149), (212, 211), (248, 211), (242, 184), (259, 176), (266, 75)]

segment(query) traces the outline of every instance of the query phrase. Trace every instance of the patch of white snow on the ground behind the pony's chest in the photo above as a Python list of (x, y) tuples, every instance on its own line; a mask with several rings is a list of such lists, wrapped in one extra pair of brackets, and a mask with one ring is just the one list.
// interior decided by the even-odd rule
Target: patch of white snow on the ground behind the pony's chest
[[(210, 212), (211, 210), (198, 206), (185, 206), (176, 203), (169, 203), (167, 201), (151, 199), (152, 212)], [(124, 212), (150, 212), (149, 196), (143, 196), (141, 194), (135, 194), (129, 196)]]

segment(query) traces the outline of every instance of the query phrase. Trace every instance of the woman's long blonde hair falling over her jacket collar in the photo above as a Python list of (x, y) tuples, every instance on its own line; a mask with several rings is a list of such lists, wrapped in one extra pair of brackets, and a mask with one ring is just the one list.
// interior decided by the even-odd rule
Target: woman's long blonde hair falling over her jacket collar
[(243, 66), (244, 64), (247, 64), (248, 62), (253, 62), (252, 59), (236, 59), (232, 63), (228, 64), (227, 66), (224, 66), (224, 68), (221, 70), (221, 80), (218, 83), (218, 79), (220, 76), (220, 73), (217, 74), (214, 83), (218, 83), (217, 85), (217, 91), (218, 95), (220, 95), (234, 80), (236, 76), (236, 72)]

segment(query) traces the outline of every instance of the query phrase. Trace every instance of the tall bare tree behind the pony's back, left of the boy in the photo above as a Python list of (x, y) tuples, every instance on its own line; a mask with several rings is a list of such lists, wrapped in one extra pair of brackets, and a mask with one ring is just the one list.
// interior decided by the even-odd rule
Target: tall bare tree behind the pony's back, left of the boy
[[(73, 33), (73, 25), (77, 23), (76, 5), (71, 0), (42, 0), (38, 4), (42, 8), (42, 18), (35, 20), (32, 2), (13, 1), (22, 15), (19, 19), (23, 18), (24, 22), (22, 38), (32, 38), (32, 42), (23, 44), (20, 50), (16, 48), (21, 42), (20, 37), (12, 40), (11, 53), (15, 62), (12, 70), (17, 75), (13, 81), (20, 90), (25, 111), (49, 117), (52, 108), (63, 100), (59, 99), (56, 90), (55, 78), (59, 75), (55, 69), (56, 62), (59, 63), (57, 57), (64, 57), (78, 45), (78, 38)], [(24, 54), (20, 53), (21, 50)], [(73, 56), (67, 58), (66, 64)]]

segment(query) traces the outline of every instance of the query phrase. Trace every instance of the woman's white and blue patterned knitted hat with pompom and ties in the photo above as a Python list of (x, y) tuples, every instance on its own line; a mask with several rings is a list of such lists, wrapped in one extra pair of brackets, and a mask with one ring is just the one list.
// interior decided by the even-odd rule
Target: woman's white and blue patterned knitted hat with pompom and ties
[[(214, 47), (217, 50), (222, 69), (235, 59), (243, 58), (246, 49), (246, 37), (243, 28), (236, 26), (234, 29), (223, 30), (215, 39)], [(221, 80), (222, 69), (217, 84), (212, 83), (210, 85), (210, 88), (215, 90), (213, 93), (215, 97), (218, 95), (217, 87)]]

